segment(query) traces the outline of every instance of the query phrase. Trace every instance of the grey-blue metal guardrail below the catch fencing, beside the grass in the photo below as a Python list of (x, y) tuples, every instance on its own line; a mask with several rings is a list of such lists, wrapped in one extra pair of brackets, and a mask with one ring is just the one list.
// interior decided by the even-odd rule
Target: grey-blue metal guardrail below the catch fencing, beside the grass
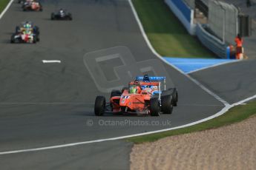
[(226, 44), (223, 44), (223, 41), (208, 33), (202, 24), (197, 24), (196, 35), (201, 43), (211, 50), (211, 52), (214, 52), (220, 58), (227, 58)]

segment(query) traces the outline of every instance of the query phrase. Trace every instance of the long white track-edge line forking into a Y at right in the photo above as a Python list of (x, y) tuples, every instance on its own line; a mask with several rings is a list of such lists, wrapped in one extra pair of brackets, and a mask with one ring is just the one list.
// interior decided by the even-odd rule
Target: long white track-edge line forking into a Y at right
[[(152, 52), (157, 55), (162, 61), (163, 58), (160, 57), (160, 55), (157, 54), (157, 52), (154, 51), (153, 47), (151, 46), (151, 44), (149, 43), (148, 41), (148, 38), (146, 37), (145, 35), (145, 32), (144, 30), (142, 29), (142, 24), (140, 23), (140, 20), (137, 16), (137, 13), (134, 9), (134, 6), (131, 2), (131, 0), (128, 0), (130, 5), (131, 5), (131, 9), (133, 10), (134, 12), (134, 16), (135, 18), (137, 19), (137, 22), (138, 24), (140, 25), (140, 29), (142, 31), (142, 34), (145, 38), (145, 41), (147, 42), (148, 44), (148, 47), (152, 50)], [(165, 62), (166, 63), (166, 62)], [(168, 64), (168, 63), (167, 63)], [(169, 64), (171, 65), (171, 64)], [(171, 65), (172, 66), (172, 65)], [(172, 66), (174, 67), (174, 66)], [(176, 68), (176, 67), (174, 67)], [(176, 68), (177, 69), (177, 68)], [(180, 70), (177, 69), (179, 72)], [(181, 72), (183, 75), (185, 75), (183, 72)], [(200, 87), (204, 90), (206, 90), (206, 92), (208, 92), (210, 95), (214, 95), (213, 92), (211, 92), (209, 89), (207, 89), (206, 87), (204, 87), (203, 85), (201, 85), (198, 81), (194, 80), (194, 78), (191, 78), (190, 76), (186, 75), (188, 78), (191, 79), (191, 81), (194, 81), (194, 83), (196, 83), (197, 85), (200, 85)], [(214, 95), (214, 98), (218, 98), (217, 95)], [(16, 154), (16, 153), (24, 153), (24, 152), (35, 152), (35, 151), (42, 151), (42, 150), (47, 150), (47, 149), (58, 149), (58, 148), (63, 148), (63, 147), (69, 147), (69, 146), (79, 146), (79, 145), (84, 145), (84, 144), (89, 144), (89, 143), (99, 143), (99, 142), (105, 142), (105, 141), (110, 141), (110, 140), (121, 140), (121, 139), (125, 139), (125, 138), (128, 138), (128, 137), (137, 137), (137, 136), (141, 136), (141, 135), (149, 135), (149, 134), (154, 134), (154, 133), (157, 133), (157, 132), (165, 132), (165, 131), (169, 131), (169, 130), (174, 130), (174, 129), (180, 129), (180, 128), (184, 128), (184, 127), (188, 127), (188, 126), (193, 126), (195, 124), (198, 124), (198, 123), (202, 123), (206, 120), (211, 120), (213, 118), (216, 118), (220, 115), (223, 115), (225, 112), (227, 112), (230, 108), (232, 108), (233, 106), (237, 106), (237, 105), (240, 105), (241, 103), (245, 103), (246, 101), (250, 101), (252, 99), (256, 98), (256, 95), (250, 97), (250, 98), (246, 98), (244, 99), (243, 101), (239, 101), (237, 103), (233, 103), (232, 105), (230, 105), (229, 103), (227, 103), (226, 101), (221, 101), (225, 107), (220, 110), (220, 112), (217, 112), (215, 115), (211, 115), (210, 117), (208, 118), (204, 118), (202, 120), (197, 120), (195, 122), (192, 122), (192, 123), (188, 123), (186, 125), (183, 125), (183, 126), (177, 126), (177, 127), (173, 127), (173, 128), (169, 128), (169, 129), (161, 129), (161, 130), (157, 130), (157, 131), (152, 131), (152, 132), (145, 132), (145, 133), (140, 133), (140, 134), (134, 134), (134, 135), (126, 135), (126, 136), (121, 136), (121, 137), (111, 137), (111, 138), (106, 138), (106, 139), (99, 139), (99, 140), (89, 140), (89, 141), (84, 141), (84, 142), (78, 142), (78, 143), (68, 143), (68, 144), (64, 144), (64, 145), (56, 145), (56, 146), (46, 146), (46, 147), (39, 147), (39, 148), (33, 148), (33, 149), (20, 149), (20, 150), (15, 150), (15, 151), (7, 151), (7, 152), (0, 152), (0, 155), (2, 154)], [(220, 100), (220, 98), (218, 98), (218, 100)]]

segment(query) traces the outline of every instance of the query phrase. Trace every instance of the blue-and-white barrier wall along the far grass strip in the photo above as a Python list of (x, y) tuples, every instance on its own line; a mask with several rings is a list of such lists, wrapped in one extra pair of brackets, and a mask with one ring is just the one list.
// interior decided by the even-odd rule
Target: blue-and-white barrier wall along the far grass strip
[[(177, 1), (177, 0), (174, 0), (174, 1)], [(168, 7), (171, 8), (171, 10), (174, 13), (174, 15), (177, 16), (177, 18), (180, 19), (180, 21), (183, 23), (184, 27), (186, 27), (186, 30), (188, 30), (188, 33), (190, 33), (191, 35), (195, 35), (195, 33), (196, 33), (196, 25), (194, 24), (194, 10), (191, 10), (188, 7), (191, 10), (190, 21), (188, 21), (186, 16), (183, 15), (183, 11), (180, 11), (180, 9), (176, 6), (176, 4), (174, 4), (174, 1), (172, 1), (172, 0), (165, 0), (165, 3), (168, 4)]]

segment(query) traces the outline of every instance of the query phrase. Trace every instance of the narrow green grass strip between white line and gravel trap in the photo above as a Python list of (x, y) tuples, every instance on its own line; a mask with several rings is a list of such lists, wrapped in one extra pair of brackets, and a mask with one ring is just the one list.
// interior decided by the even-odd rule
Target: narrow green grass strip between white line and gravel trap
[(214, 129), (220, 126), (226, 126), (232, 123), (239, 122), (241, 120), (245, 120), (252, 115), (256, 115), (256, 101), (252, 101), (246, 105), (234, 106), (224, 115), (221, 115), (212, 120), (208, 120), (203, 123), (199, 123), (194, 126), (189, 126), (182, 129), (176, 129), (167, 132), (160, 132), (151, 135), (143, 135), (140, 137), (131, 137), (128, 138), (128, 141), (134, 143), (145, 143), (145, 142), (153, 142), (155, 140), (159, 140), (163, 137), (173, 136), (173, 135), (182, 135), (191, 132), (199, 132), (206, 129)]

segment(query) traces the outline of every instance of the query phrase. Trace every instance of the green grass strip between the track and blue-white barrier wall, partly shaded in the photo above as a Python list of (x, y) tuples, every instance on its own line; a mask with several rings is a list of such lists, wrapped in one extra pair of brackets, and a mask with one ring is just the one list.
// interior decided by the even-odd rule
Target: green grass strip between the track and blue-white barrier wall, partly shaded
[(154, 49), (162, 56), (214, 58), (197, 38), (188, 34), (163, 0), (132, 0)]

